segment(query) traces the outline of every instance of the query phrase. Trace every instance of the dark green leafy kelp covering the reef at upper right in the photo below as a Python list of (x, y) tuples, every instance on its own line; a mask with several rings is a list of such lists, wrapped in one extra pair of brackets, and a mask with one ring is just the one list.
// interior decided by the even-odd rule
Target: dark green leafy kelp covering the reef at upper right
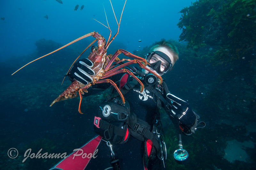
[[(256, 86), (256, 3), (254, 0), (199, 0), (183, 8), (178, 27), (180, 41), (207, 59), (214, 66), (222, 66), (223, 76), (248, 77)], [(228, 73), (232, 72), (232, 73)], [(255, 89), (255, 88), (254, 88)]]

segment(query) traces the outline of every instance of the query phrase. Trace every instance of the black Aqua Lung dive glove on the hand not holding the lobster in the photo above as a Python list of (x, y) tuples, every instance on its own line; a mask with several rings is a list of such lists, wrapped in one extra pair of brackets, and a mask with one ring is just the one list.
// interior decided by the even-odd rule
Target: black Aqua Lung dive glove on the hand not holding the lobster
[(172, 103), (169, 107), (167, 106), (169, 114), (180, 122), (180, 130), (187, 135), (191, 135), (192, 132), (195, 133), (199, 116), (190, 109), (188, 103), (184, 100), (170, 93), (168, 93), (166, 97), (169, 99), (169, 102)]

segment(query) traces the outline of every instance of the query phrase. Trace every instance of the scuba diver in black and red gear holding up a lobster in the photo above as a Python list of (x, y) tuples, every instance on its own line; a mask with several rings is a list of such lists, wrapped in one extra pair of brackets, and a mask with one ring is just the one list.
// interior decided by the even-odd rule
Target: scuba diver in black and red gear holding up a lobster
[[(146, 55), (146, 60), (150, 63), (146, 67), (162, 76), (172, 70), (179, 59), (178, 55), (174, 45), (161, 41)], [(85, 85), (92, 82), (89, 75), (93, 72), (92, 66), (93, 63), (88, 59), (77, 61), (68, 74), (69, 79)], [(187, 102), (170, 94), (164, 80), (159, 84), (158, 78), (147, 70), (129, 68), (143, 82), (143, 92), (140, 92), (138, 81), (127, 73), (111, 77), (124, 95), (125, 103), (110, 83), (90, 87), (84, 96), (111, 88), (110, 94), (99, 104), (93, 115), (92, 123), (97, 135), (51, 170), (164, 169), (167, 153), (159, 110), (163, 108), (177, 130), (186, 135), (195, 133), (199, 124), (201, 127), (205, 125), (198, 123), (199, 116), (191, 110)], [(179, 146), (183, 152), (181, 138)], [(183, 153), (180, 157), (186, 155), (188, 154)]]

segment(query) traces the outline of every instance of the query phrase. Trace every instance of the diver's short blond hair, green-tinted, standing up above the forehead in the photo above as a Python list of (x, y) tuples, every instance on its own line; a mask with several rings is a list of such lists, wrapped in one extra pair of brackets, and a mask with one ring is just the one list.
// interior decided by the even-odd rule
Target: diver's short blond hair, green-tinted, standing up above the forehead
[(174, 63), (179, 59), (179, 51), (177, 47), (167, 41), (160, 41), (155, 46), (150, 48), (149, 53), (155, 51), (155, 49), (158, 47), (165, 47), (170, 53), (172, 53)]

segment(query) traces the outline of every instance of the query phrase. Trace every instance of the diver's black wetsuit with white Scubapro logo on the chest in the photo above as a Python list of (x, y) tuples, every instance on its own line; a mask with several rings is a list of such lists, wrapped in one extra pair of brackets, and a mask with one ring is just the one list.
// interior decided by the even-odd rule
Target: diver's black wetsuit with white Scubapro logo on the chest
[[(123, 75), (124, 74), (118, 74), (111, 77), (111, 80), (116, 79), (116, 84), (119, 88), (120, 86), (123, 86), (123, 82), (120, 83), (120, 77)], [(127, 82), (132, 79), (133, 78), (129, 76)], [(159, 86), (161, 85), (154, 85), (154, 88), (162, 89), (159, 88)], [(100, 89), (106, 89), (108, 87), (110, 87), (109, 83), (95, 84), (92, 88), (88, 89), (89, 93), (85, 95), (90, 95)], [(116, 90), (114, 89), (113, 91)], [(156, 120), (156, 114), (158, 113), (156, 96), (147, 89), (144, 89), (143, 92), (140, 93), (140, 85), (138, 84), (124, 94), (124, 98), (125, 101), (129, 102), (130, 110), (135, 113), (138, 118), (146, 121), (152, 127)], [(137, 140), (132, 136), (130, 136), (128, 141), (124, 144), (112, 143), (114, 153), (119, 159), (121, 170), (144, 169), (144, 143), (144, 141)], [(111, 167), (111, 152), (109, 147), (106, 145), (106, 142), (101, 141), (98, 149), (97, 158), (91, 159), (86, 169), (104, 170)], [(158, 159), (156, 156), (154, 159), (149, 159), (148, 169), (162, 169), (162, 163), (163, 161)]]

